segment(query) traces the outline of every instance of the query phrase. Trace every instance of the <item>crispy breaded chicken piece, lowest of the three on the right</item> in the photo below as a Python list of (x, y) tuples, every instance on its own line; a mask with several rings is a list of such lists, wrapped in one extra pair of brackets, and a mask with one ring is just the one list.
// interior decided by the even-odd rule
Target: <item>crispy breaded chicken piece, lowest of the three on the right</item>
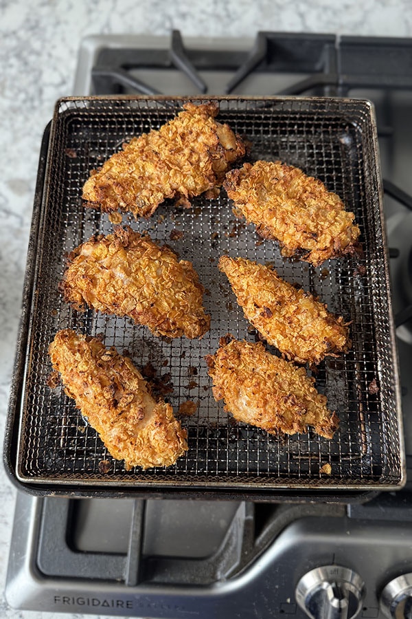
[(225, 400), (225, 411), (238, 421), (271, 434), (306, 433), (312, 426), (317, 434), (333, 437), (339, 419), (303, 367), (271, 355), (261, 343), (238, 340), (221, 342), (206, 360), (214, 398)]

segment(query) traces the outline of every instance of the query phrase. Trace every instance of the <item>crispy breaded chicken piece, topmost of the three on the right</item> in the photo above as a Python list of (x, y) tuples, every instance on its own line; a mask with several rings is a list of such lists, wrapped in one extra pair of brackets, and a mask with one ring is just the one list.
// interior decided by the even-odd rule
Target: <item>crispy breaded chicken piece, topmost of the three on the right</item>
[(257, 226), (264, 239), (275, 239), (282, 255), (318, 266), (328, 258), (361, 251), (354, 214), (319, 179), (281, 162), (244, 164), (223, 184), (236, 215)]

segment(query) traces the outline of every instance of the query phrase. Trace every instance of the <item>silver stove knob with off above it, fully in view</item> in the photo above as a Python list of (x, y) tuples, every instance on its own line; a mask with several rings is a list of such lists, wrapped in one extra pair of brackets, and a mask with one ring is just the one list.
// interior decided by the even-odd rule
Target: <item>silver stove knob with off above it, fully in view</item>
[(365, 584), (352, 569), (323, 565), (302, 576), (295, 593), (311, 619), (352, 619), (362, 608)]

